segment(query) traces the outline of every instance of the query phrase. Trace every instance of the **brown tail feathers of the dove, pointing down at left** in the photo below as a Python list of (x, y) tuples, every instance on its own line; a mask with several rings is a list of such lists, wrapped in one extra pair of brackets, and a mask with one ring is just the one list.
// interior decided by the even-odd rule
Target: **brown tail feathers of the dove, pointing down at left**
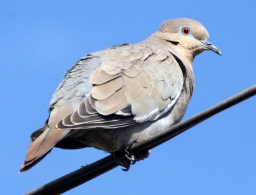
[(65, 137), (70, 130), (51, 129), (47, 127), (45, 131), (31, 143), (20, 172), (26, 171), (42, 160), (52, 147)]

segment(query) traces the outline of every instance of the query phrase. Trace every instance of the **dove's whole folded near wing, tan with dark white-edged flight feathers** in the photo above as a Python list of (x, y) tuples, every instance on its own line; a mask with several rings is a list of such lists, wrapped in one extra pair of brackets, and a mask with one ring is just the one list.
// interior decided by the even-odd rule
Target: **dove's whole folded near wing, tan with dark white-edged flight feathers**
[(122, 45), (102, 53), (91, 78), (92, 93), (60, 129), (117, 128), (157, 120), (170, 111), (183, 85), (173, 55), (160, 46)]

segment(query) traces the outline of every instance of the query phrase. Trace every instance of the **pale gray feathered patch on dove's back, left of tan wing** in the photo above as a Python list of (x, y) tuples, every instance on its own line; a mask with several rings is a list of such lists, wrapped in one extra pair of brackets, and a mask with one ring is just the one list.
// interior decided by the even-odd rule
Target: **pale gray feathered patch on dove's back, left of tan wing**
[(100, 66), (100, 56), (101, 52), (88, 54), (67, 71), (51, 98), (49, 127), (55, 127), (65, 116), (76, 111), (78, 105), (90, 95), (90, 76)]

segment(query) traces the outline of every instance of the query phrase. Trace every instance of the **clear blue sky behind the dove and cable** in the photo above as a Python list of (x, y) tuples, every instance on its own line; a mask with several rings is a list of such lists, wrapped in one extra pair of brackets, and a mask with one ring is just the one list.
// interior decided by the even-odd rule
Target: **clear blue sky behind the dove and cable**
[[(54, 149), (18, 174), (29, 135), (47, 118), (65, 71), (93, 51), (135, 43), (163, 20), (189, 17), (207, 27), (223, 57), (194, 61), (195, 91), (184, 118), (255, 84), (255, 1), (0, 2), (0, 189), (24, 194), (108, 155)], [(158, 146), (125, 173), (116, 168), (65, 194), (256, 194), (256, 98)]]

